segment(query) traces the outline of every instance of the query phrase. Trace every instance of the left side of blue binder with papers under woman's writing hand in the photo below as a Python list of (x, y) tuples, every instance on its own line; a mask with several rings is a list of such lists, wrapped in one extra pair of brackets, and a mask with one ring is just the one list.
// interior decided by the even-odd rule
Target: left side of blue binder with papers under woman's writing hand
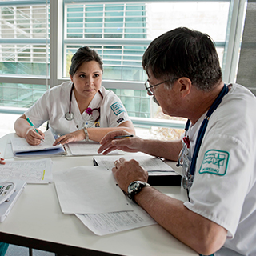
[(46, 156), (52, 154), (64, 154), (65, 150), (62, 145), (53, 146), (54, 135), (50, 130), (46, 130), (44, 142), (39, 145), (32, 146), (26, 142), (26, 138), (11, 138), (11, 146), (14, 156), (27, 157), (30, 155), (34, 156)]

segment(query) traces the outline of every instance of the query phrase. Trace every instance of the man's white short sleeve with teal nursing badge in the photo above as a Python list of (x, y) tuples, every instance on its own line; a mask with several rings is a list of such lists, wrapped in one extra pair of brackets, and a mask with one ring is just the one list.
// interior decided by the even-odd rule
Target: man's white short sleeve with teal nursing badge
[(190, 202), (184, 205), (224, 227), (233, 238), (253, 170), (250, 153), (237, 138), (216, 134), (206, 138), (198, 154)]

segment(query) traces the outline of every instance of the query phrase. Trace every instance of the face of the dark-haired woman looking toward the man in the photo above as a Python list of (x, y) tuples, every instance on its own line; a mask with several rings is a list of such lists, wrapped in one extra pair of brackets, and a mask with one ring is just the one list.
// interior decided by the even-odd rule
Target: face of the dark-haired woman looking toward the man
[(74, 83), (74, 94), (79, 98), (94, 98), (102, 85), (102, 70), (98, 62), (83, 62), (77, 72), (70, 75)]

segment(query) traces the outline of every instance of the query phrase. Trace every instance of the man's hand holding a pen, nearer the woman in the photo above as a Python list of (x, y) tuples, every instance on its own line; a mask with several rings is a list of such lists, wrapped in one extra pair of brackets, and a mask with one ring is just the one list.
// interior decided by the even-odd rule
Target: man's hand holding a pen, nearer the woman
[(142, 148), (143, 139), (134, 137), (114, 138), (115, 136), (132, 135), (126, 130), (114, 130), (102, 138), (102, 146), (98, 148), (98, 153), (109, 154), (113, 150), (123, 150), (126, 152), (138, 152)]

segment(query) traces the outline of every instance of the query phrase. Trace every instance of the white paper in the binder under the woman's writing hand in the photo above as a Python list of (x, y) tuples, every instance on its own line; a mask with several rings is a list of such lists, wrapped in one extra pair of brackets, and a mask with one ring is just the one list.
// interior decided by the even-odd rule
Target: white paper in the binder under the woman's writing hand
[(28, 152), (35, 150), (50, 150), (61, 148), (62, 145), (53, 146), (55, 139), (50, 130), (46, 130), (44, 142), (41, 142), (37, 146), (32, 146), (26, 142), (26, 138), (11, 138), (10, 142), (14, 153)]

